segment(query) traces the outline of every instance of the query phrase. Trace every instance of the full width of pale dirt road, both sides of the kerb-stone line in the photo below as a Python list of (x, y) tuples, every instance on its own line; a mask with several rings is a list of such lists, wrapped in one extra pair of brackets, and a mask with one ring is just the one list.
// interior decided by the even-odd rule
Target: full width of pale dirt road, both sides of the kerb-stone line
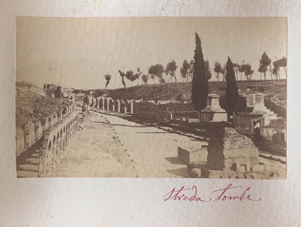
[(189, 177), (177, 148), (195, 139), (95, 112), (83, 128), (51, 177)]

